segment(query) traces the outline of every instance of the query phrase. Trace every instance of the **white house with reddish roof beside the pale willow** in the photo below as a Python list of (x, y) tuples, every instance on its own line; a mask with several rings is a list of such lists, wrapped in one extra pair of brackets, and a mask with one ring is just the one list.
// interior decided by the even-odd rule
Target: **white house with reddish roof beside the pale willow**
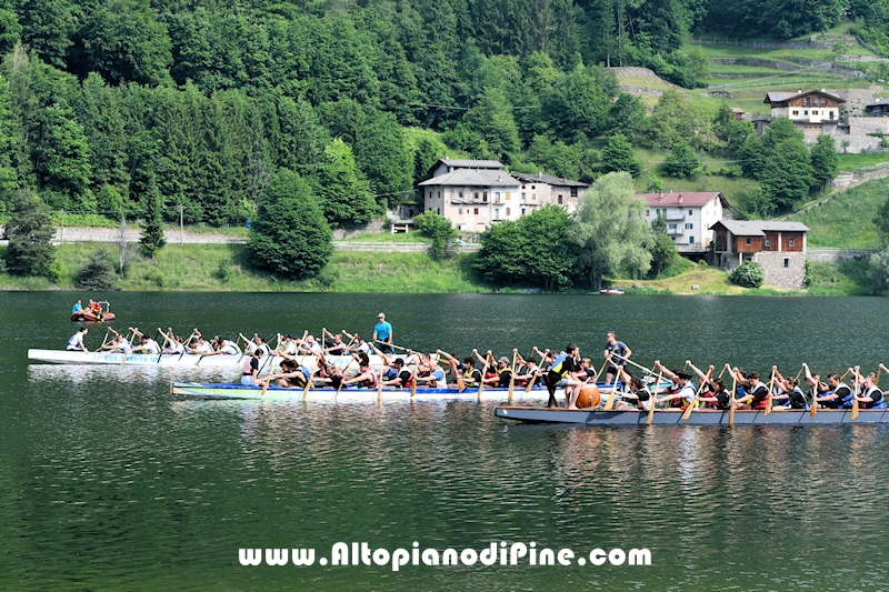
[(650, 223), (662, 215), (667, 234), (682, 254), (702, 253), (713, 240), (710, 227), (722, 220), (729, 202), (719, 191), (680, 191), (641, 193), (646, 200), (646, 220)]

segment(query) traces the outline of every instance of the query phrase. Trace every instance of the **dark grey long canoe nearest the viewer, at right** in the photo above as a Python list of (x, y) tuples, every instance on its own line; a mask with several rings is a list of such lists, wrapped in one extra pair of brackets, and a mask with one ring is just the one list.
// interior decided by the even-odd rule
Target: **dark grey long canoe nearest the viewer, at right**
[[(580, 423), (585, 425), (646, 425), (648, 412), (639, 411), (587, 411), (586, 409), (547, 409), (536, 407), (498, 407), (498, 418), (528, 423)], [(658, 425), (728, 425), (729, 412), (717, 410), (693, 411), (687, 420), (682, 420), (682, 411), (656, 411), (651, 423)], [(750, 424), (836, 424), (836, 423), (889, 423), (889, 410), (861, 410), (852, 420), (851, 410), (820, 409), (815, 417), (808, 411), (772, 411), (768, 415), (763, 411), (736, 411), (736, 425)]]

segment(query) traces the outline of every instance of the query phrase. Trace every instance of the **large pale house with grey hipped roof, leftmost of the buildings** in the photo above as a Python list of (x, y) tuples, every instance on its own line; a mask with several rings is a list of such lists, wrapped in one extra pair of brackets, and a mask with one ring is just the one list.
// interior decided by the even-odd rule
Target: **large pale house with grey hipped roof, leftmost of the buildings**
[(519, 203), (521, 182), (498, 169), (458, 168), (419, 187), (423, 210), (443, 215), (463, 231), (483, 232), (496, 222), (526, 213)]

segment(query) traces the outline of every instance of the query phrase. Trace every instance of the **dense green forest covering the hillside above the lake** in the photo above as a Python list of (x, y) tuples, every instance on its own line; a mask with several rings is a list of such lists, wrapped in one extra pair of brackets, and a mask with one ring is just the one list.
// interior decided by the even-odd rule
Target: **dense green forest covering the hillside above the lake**
[[(860, 4), (852, 18), (878, 10)], [(792, 36), (841, 19), (838, 0), (2, 6), (0, 209), (21, 190), (111, 218), (157, 198), (167, 219), (211, 224), (253, 215), (280, 169), (349, 224), (410, 200), (446, 153), (591, 180), (617, 133), (701, 148), (710, 123), (680, 98), (648, 118), (602, 66), (693, 87), (707, 61), (682, 43), (701, 26)]]

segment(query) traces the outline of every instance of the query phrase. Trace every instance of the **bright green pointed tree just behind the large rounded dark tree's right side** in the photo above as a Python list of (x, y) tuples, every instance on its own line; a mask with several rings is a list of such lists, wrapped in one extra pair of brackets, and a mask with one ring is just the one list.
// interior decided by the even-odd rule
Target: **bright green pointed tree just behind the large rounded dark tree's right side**
[(380, 213), (370, 183), (354, 163), (351, 147), (339, 138), (324, 149), (317, 181), (324, 218), (332, 225), (363, 224)]

